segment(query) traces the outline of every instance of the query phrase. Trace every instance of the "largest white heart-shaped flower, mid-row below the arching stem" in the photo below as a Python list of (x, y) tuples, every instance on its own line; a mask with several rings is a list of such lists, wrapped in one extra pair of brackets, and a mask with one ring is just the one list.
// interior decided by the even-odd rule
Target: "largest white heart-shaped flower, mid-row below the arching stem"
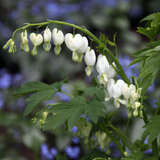
[(87, 38), (80, 34), (73, 35), (71, 33), (67, 33), (65, 35), (65, 43), (72, 51), (73, 61), (80, 63), (83, 59), (83, 53), (85, 53), (88, 48)]

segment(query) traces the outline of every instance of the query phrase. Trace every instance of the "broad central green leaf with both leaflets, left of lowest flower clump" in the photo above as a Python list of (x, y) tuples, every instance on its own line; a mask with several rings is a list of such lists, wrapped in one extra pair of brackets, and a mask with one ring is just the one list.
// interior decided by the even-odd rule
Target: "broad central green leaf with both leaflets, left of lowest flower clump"
[(76, 96), (70, 102), (60, 103), (49, 109), (48, 112), (53, 114), (46, 120), (44, 129), (56, 129), (65, 122), (71, 129), (83, 114), (87, 114), (96, 123), (99, 117), (105, 115), (104, 109), (101, 101), (95, 99), (88, 102), (84, 97)]

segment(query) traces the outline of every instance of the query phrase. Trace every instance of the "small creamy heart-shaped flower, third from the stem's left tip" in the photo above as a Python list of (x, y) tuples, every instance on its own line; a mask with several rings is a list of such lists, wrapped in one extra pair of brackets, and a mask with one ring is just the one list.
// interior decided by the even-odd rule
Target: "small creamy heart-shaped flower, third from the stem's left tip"
[(37, 47), (42, 44), (43, 37), (41, 34), (31, 33), (30, 34), (30, 40), (32, 44), (34, 45), (32, 50), (32, 55), (37, 55)]

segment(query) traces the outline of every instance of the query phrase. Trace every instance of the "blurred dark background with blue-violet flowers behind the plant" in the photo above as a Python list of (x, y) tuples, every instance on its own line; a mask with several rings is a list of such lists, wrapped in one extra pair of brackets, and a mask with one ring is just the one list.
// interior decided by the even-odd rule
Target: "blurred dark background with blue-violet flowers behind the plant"
[[(113, 34), (117, 33), (120, 62), (128, 77), (137, 76), (138, 67), (128, 68), (128, 65), (132, 60), (132, 54), (144, 46), (146, 39), (136, 33), (136, 27), (141, 18), (159, 11), (160, 1), (1, 0), (0, 2), (0, 160), (53, 160), (55, 156), (60, 160), (81, 159), (88, 153), (88, 148), (76, 136), (76, 126), (71, 132), (64, 131), (63, 128), (56, 132), (41, 131), (28, 117), (23, 116), (24, 99), (14, 99), (11, 93), (24, 82), (43, 81), (50, 84), (66, 77), (71, 80), (70, 85), (63, 86), (66, 92), (70, 90), (70, 86), (74, 87), (77, 84), (85, 86), (91, 80), (85, 75), (85, 65), (72, 62), (71, 53), (65, 47), (58, 57), (55, 56), (53, 49), (50, 53), (45, 53), (39, 48), (39, 55), (33, 57), (20, 50), (12, 55), (2, 50), (2, 47), (12, 32), (24, 23), (47, 19), (64, 20), (85, 26), (97, 36), (104, 33), (112, 39)], [(69, 27), (59, 28), (64, 33), (73, 32)], [(18, 36), (17, 34), (17, 41), (20, 40)], [(150, 114), (155, 108), (155, 99), (159, 92), (160, 88), (155, 81), (148, 90), (150, 101), (145, 102)], [(54, 100), (68, 101), (69, 96), (58, 93)], [(121, 119), (119, 123), (123, 126), (127, 115), (121, 113), (117, 119)], [(141, 136), (142, 126), (143, 122), (140, 120), (132, 123), (130, 136), (133, 141)], [(113, 157), (121, 156), (112, 142), (108, 150)], [(146, 154), (151, 152), (148, 150)]]

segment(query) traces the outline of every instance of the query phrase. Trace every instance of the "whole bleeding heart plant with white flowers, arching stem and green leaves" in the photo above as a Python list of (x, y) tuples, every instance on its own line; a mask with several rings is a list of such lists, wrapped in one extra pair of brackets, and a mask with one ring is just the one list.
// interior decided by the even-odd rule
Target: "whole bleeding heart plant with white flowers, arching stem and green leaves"
[[(100, 147), (105, 153), (103, 158), (94, 160), (112, 160), (108, 148), (110, 142), (114, 142), (121, 153), (121, 160), (158, 160), (160, 143), (158, 136), (160, 134), (160, 108), (157, 107), (155, 115), (148, 118), (149, 114), (145, 108), (145, 98), (147, 88), (152, 85), (153, 81), (160, 72), (160, 41), (156, 39), (160, 33), (159, 25), (160, 13), (152, 14), (143, 21), (147, 21), (146, 27), (139, 27), (138, 32), (147, 36), (151, 42), (133, 55), (135, 60), (132, 64), (141, 63), (140, 75), (138, 77), (127, 77), (125, 71), (119, 63), (117, 55), (110, 47), (116, 47), (115, 41), (110, 41), (105, 35), (97, 38), (86, 28), (70, 24), (63, 21), (49, 20), (47, 22), (27, 24), (13, 32), (12, 38), (4, 45), (9, 53), (16, 52), (15, 34), (21, 31), (21, 49), (29, 52), (27, 29), (30, 27), (44, 27), (43, 36), (37, 33), (31, 33), (29, 38), (33, 44), (32, 55), (37, 55), (37, 47), (43, 44), (46, 52), (51, 50), (51, 39), (55, 46), (55, 53), (59, 55), (63, 42), (72, 52), (72, 60), (81, 63), (84, 59), (87, 76), (93, 73), (95, 79), (91, 87), (77, 90), (71, 93), (69, 102), (49, 104), (48, 107), (40, 109), (40, 115), (35, 115), (35, 122), (40, 124), (43, 130), (54, 130), (64, 124), (69, 130), (73, 126), (78, 127), (77, 135), (82, 137), (86, 143), (92, 144), (92, 147)], [(65, 33), (54, 28), (51, 33), (50, 24), (59, 24), (73, 27), (81, 31), (82, 34)], [(92, 41), (92, 47), (89, 41)], [(93, 47), (94, 44), (94, 47)], [(115, 52), (116, 52), (115, 51)], [(96, 56), (97, 55), (97, 56)], [(97, 60), (97, 62), (96, 62)], [(76, 65), (76, 64), (75, 64)], [(120, 77), (120, 78), (118, 78)], [(15, 92), (17, 96), (29, 97), (28, 105), (24, 111), (25, 115), (32, 113), (39, 103), (52, 99), (53, 95), (62, 91), (62, 85), (66, 81), (56, 82), (47, 85), (42, 82), (30, 82), (24, 84)], [(37, 98), (38, 97), (38, 98)], [(110, 111), (110, 105), (114, 110)], [(107, 105), (106, 105), (107, 104)], [(158, 105), (160, 103), (157, 103)], [(125, 106), (128, 111), (128, 120), (126, 123), (126, 132), (117, 127), (113, 119), (117, 110)], [(84, 118), (88, 117), (88, 120)], [(142, 119), (145, 123), (145, 131), (141, 139), (132, 142), (128, 137), (128, 129), (131, 120)], [(123, 130), (123, 131), (122, 131)], [(144, 144), (148, 137), (148, 144)], [(146, 149), (152, 148), (152, 155), (149, 157), (144, 154)], [(128, 152), (129, 150), (129, 152)]]

